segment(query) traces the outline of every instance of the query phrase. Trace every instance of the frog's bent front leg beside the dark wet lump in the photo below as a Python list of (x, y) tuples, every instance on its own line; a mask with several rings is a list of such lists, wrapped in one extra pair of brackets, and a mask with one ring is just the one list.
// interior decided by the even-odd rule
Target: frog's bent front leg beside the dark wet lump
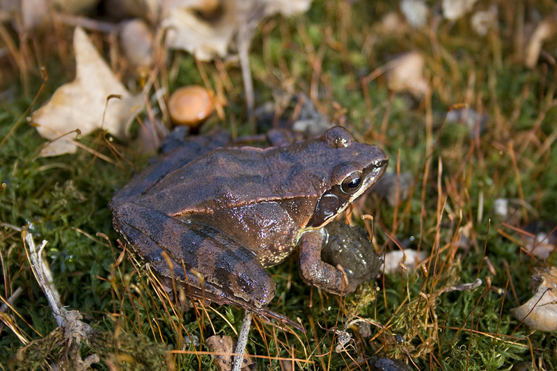
[(321, 260), (321, 246), (325, 233), (321, 228), (309, 230), (301, 235), (298, 242), (300, 276), (305, 283), (331, 294), (345, 295), (353, 292), (359, 282), (350, 280), (343, 271)]

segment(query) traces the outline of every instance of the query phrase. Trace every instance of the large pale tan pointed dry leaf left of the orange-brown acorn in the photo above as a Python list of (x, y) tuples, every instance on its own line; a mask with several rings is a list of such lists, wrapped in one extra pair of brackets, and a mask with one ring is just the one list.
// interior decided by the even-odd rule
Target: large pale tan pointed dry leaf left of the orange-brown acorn
[[(76, 134), (82, 135), (96, 129), (109, 129), (113, 136), (125, 139), (132, 120), (143, 110), (143, 94), (132, 95), (102, 59), (85, 31), (74, 31), (76, 77), (74, 81), (58, 88), (49, 102), (33, 113), (33, 122), (40, 125), (37, 131), (52, 141), (45, 145), (40, 157), (74, 153)], [(110, 95), (119, 95), (111, 98)]]

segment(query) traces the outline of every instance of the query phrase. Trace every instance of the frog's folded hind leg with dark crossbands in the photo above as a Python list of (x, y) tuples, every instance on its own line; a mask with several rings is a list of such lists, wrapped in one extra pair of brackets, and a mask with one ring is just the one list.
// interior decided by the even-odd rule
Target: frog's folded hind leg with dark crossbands
[(255, 311), (273, 298), (274, 282), (256, 254), (214, 228), (136, 203), (121, 203), (113, 216), (115, 229), (155, 271), (195, 297)]

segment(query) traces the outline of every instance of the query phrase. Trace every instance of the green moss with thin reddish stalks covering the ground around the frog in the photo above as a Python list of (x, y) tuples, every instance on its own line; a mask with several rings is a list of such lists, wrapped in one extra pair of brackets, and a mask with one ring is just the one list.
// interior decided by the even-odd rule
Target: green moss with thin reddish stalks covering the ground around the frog
[[(538, 5), (542, 11), (544, 4)], [(366, 285), (363, 294), (345, 298), (304, 285), (295, 257), (269, 269), (277, 287), (269, 308), (299, 318), (307, 332), (283, 331), (255, 319), (248, 350), (260, 368), (281, 369), (276, 357), (295, 358), (301, 370), (354, 368), (353, 360), (376, 354), (406, 361), (410, 357), (421, 370), (508, 370), (521, 361), (548, 370), (557, 367), (556, 335), (519, 326), (509, 312), (531, 294), (527, 278), (534, 268), (556, 262), (556, 255), (543, 262), (522, 252), (517, 228), (539, 219), (557, 222), (557, 173), (549, 166), (557, 163), (557, 147), (552, 145), (557, 109), (549, 104), (555, 71), (543, 62), (528, 70), (515, 58), (517, 35), (514, 21), (507, 18), (515, 14), (515, 6), (499, 4), (501, 35), (486, 38), (473, 33), (466, 19), (442, 23), (434, 40), (424, 30), (382, 34), (377, 25), (394, 10), (389, 1), (372, 6), (365, 1), (314, 3), (306, 15), (273, 17), (258, 29), (250, 54), (256, 104), (273, 100), (278, 90), (313, 93), (327, 117), (345, 120), (354, 136), (389, 153), (389, 171), (395, 171), (400, 159), (401, 171), (413, 179), (409, 199), (394, 210), (369, 198), (356, 214), (374, 216), (374, 239), (381, 252), (397, 249), (397, 244), (434, 251), (427, 279), (419, 269), (387, 274)], [(45, 36), (45, 45), (48, 40)], [(426, 57), (430, 99), (390, 92), (384, 74), (362, 85), (363, 77), (392, 56), (414, 49)], [(71, 58), (57, 53), (52, 47), (42, 56), (49, 81), (38, 102), (72, 78)], [(163, 86), (203, 84), (203, 73), (214, 86), (222, 83), (214, 63), (197, 64), (182, 53), (173, 58), (177, 78), (159, 81)], [(63, 303), (84, 313), (100, 333), (99, 343), (81, 348), (82, 356), (100, 354), (101, 369), (111, 362), (125, 368), (140, 361), (169, 363), (176, 370), (214, 368), (211, 356), (203, 353), (208, 350), (203, 342), (192, 345), (187, 339), (197, 336), (203, 341), (214, 333), (235, 336), (242, 310), (199, 303), (189, 308), (185, 299), (168, 297), (153, 285), (148, 271), (128, 251), (118, 259), (122, 250), (116, 240), (121, 237), (112, 230), (107, 203), (113, 191), (131, 179), (134, 167), (143, 167), (148, 158), (136, 152), (134, 143), (118, 141), (111, 143), (130, 163), (111, 164), (82, 150), (37, 158), (44, 141), (25, 123), (32, 97), (24, 91), (38, 92), (39, 74), (31, 72), (24, 86), (13, 65), (0, 69), (2, 76), (15, 81), (13, 99), (0, 103), (0, 184), (6, 184), (0, 189), (0, 297), (8, 299), (22, 288), (13, 303), (15, 311), (5, 312), (14, 325), (2, 317), (0, 365), (8, 365), (23, 345), (18, 335), (40, 340), (56, 329), (20, 234), (11, 227), (26, 226), (36, 239), (49, 242), (45, 255)], [(223, 118), (214, 118), (212, 125), (253, 134), (244, 124), (240, 69), (227, 65), (226, 72), (232, 86), (225, 89), (228, 105)], [(487, 116), (477, 141), (464, 126), (442, 125), (448, 108), (462, 102)], [(138, 132), (139, 125), (134, 125)], [(99, 132), (81, 142), (111, 159), (121, 158)], [(496, 198), (511, 200), (507, 217), (494, 214)], [(462, 246), (457, 248), (459, 241)], [(476, 290), (442, 292), (476, 278), (483, 280)], [(492, 290), (485, 290), (488, 281)], [(365, 326), (344, 329), (349, 318), (370, 326), (370, 336)], [(335, 352), (339, 333), (334, 326), (350, 334), (347, 352)], [(42, 359), (52, 362), (58, 352), (34, 350), (39, 361), (29, 367), (45, 366)]]

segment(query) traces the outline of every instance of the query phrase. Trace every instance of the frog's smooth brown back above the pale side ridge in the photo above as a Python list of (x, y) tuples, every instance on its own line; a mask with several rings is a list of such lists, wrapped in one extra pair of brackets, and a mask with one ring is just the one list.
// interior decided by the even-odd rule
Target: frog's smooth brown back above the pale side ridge
[(210, 152), (169, 174), (138, 203), (187, 219), (263, 200), (283, 200), (307, 187), (297, 187), (301, 164), (278, 164), (279, 148), (225, 148)]

